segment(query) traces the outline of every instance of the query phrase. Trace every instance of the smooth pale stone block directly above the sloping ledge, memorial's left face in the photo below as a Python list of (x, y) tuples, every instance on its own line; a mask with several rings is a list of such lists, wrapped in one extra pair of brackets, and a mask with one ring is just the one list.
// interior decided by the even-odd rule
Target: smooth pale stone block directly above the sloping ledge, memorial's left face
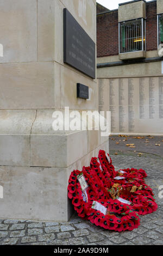
[(54, 108), (55, 99), (58, 102), (59, 81), (54, 90), (58, 72), (53, 63), (1, 64), (0, 76), (0, 109)]

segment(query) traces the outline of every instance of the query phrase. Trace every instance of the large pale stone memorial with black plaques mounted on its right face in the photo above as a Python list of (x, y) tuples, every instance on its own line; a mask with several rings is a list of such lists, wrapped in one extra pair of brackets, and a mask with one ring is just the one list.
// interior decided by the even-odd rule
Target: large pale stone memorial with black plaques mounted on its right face
[[(76, 40), (86, 36), (90, 69), (64, 62), (64, 9), (78, 23)], [(56, 110), (98, 111), (96, 1), (0, 0), (0, 23), (0, 218), (67, 221), (70, 173), (109, 147), (100, 131), (52, 127)], [(77, 83), (89, 99), (77, 97)]]

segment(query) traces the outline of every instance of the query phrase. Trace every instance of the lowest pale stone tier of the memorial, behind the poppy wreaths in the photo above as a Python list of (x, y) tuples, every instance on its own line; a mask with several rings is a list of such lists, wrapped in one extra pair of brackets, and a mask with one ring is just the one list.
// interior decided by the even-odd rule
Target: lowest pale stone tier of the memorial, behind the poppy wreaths
[(106, 141), (68, 168), (0, 167), (3, 199), (0, 199), (0, 218), (34, 221), (68, 221), (73, 213), (67, 198), (68, 178), (73, 169), (89, 166), (98, 151), (108, 152)]

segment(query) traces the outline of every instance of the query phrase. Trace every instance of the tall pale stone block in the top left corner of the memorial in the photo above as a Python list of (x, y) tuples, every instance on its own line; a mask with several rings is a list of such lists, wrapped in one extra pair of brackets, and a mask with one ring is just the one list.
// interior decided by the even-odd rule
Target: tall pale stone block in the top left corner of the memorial
[(0, 1), (0, 63), (37, 60), (37, 1)]

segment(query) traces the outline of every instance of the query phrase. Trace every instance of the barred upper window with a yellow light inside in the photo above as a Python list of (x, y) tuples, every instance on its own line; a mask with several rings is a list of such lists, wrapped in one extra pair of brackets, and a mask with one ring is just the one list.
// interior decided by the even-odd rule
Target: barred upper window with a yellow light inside
[(120, 53), (146, 50), (146, 21), (137, 19), (119, 23)]

